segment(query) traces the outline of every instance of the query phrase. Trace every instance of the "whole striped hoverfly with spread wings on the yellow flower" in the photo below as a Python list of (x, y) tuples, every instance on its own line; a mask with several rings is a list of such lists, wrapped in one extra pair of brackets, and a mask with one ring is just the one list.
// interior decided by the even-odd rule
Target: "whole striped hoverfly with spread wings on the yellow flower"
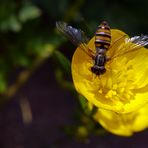
[(87, 46), (88, 38), (81, 29), (74, 28), (72, 26), (69, 26), (67, 23), (60, 21), (56, 22), (56, 27), (74, 45), (80, 47), (86, 54), (88, 54), (94, 60), (94, 64), (91, 67), (91, 71), (96, 75), (102, 75), (106, 72), (105, 64), (107, 61), (148, 45), (147, 35), (134, 36), (132, 38), (125, 38), (124, 35), (121, 38), (117, 39), (113, 44), (125, 38), (125, 51), (123, 51), (122, 49), (122, 52), (119, 51), (118, 54), (114, 54), (113, 57), (107, 57), (106, 52), (111, 48), (112, 45), (111, 30), (106, 21), (103, 21), (96, 29), (94, 42), (96, 48), (95, 52)]

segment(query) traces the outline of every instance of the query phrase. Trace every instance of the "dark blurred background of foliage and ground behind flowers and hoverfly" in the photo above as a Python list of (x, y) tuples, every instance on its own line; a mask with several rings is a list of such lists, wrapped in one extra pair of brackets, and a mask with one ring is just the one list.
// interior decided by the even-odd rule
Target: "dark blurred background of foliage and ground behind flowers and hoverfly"
[(94, 125), (78, 132), (87, 125), (70, 73), (75, 47), (55, 28), (62, 20), (91, 37), (107, 20), (130, 36), (148, 34), (147, 6), (146, 0), (1, 0), (0, 148), (147, 148), (147, 130), (132, 137), (97, 135)]

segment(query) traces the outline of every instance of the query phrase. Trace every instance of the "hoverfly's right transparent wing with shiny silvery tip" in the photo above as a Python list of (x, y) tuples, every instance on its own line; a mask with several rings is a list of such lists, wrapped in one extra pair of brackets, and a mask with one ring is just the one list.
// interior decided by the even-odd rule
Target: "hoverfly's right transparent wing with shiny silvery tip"
[(112, 54), (110, 59), (136, 51), (146, 45), (148, 45), (147, 35), (134, 36), (132, 38), (125, 37), (124, 42), (118, 47), (117, 50), (115, 50), (116, 52)]

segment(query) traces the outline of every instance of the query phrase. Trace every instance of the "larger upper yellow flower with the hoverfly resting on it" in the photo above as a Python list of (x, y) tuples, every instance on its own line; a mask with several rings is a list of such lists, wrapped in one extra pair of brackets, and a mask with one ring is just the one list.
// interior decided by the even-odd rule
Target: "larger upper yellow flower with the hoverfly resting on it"
[[(73, 82), (76, 90), (93, 105), (129, 113), (148, 102), (148, 50), (142, 47), (123, 54), (134, 43), (125, 47), (128, 36), (120, 30), (111, 29), (111, 36), (107, 55), (116, 58), (106, 62), (106, 72), (100, 76), (93, 74), (90, 69), (94, 61), (78, 47), (72, 59)], [(88, 47), (95, 52), (94, 40), (93, 37)]]

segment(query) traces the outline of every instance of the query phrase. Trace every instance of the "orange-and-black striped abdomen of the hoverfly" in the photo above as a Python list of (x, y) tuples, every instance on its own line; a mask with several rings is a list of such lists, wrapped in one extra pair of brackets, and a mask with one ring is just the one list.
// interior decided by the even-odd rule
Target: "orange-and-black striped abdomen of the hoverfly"
[(108, 49), (111, 43), (111, 31), (108, 23), (103, 21), (97, 28), (95, 33), (96, 49)]

